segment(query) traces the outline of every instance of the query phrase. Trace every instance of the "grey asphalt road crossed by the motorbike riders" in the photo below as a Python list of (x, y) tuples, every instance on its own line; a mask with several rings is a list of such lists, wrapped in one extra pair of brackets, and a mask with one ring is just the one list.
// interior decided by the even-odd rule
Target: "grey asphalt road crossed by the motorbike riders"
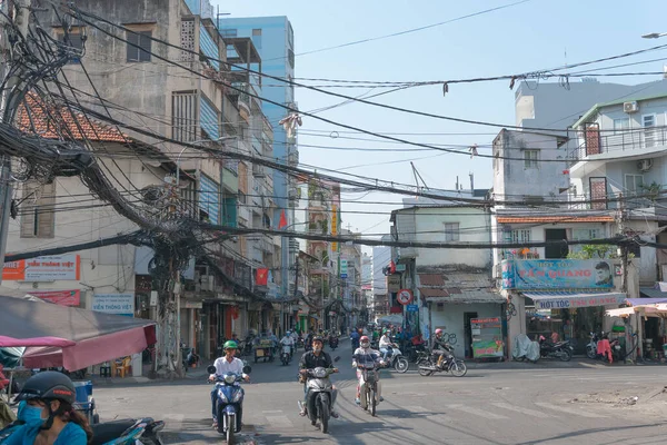
[[(252, 365), (246, 386), (246, 443), (260, 444), (658, 444), (664, 443), (667, 397), (650, 394), (666, 385), (664, 366), (500, 365), (470, 369), (456, 378), (421, 377), (416, 370), (382, 372), (385, 402), (377, 417), (354, 403), (356, 379), (349, 343), (341, 356), (340, 388), (330, 434), (300, 417), (302, 397), (296, 382), (297, 359)], [(654, 392), (654, 389), (657, 389)], [(180, 383), (96, 387), (103, 419), (150, 415), (167, 422), (169, 444), (211, 444), (222, 439), (210, 429), (210, 386), (205, 377)], [(639, 396), (639, 403), (631, 395)], [(607, 398), (605, 398), (607, 397)], [(645, 405), (645, 399), (655, 403)]]

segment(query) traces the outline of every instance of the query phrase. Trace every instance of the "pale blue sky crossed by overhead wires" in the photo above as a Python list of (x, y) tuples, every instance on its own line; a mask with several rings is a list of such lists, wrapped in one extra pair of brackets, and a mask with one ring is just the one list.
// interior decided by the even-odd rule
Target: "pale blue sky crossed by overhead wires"
[[(529, 0), (412, 33), (299, 56), (321, 48), (447, 21), (516, 1), (213, 0), (212, 3), (216, 8), (219, 7), (220, 12), (227, 12), (230, 17), (287, 16), (295, 30), (297, 78), (374, 81), (468, 79), (552, 69), (566, 63), (667, 44), (667, 37), (661, 40), (640, 38), (648, 32), (667, 32), (667, 2)], [(661, 71), (664, 63), (667, 63), (667, 49), (623, 59), (624, 62), (631, 62), (661, 57), (665, 57), (665, 61), (600, 72)], [(603, 66), (605, 63), (600, 65)], [(600, 81), (633, 85), (658, 80), (660, 76), (607, 79)], [(382, 90), (350, 88), (335, 91), (357, 97)], [(303, 88), (297, 88), (296, 100), (299, 109), (305, 111), (342, 101)], [(515, 125), (514, 91), (509, 89), (507, 80), (451, 85), (446, 96), (441, 86), (427, 86), (370, 100), (457, 118)], [(358, 102), (340, 106), (318, 116), (375, 132), (406, 134), (398, 137), (411, 141), (460, 145), (464, 151), (465, 147), (472, 144), (490, 145), (499, 131), (499, 128), (407, 115)], [(344, 131), (348, 130), (305, 117), (299, 132), (300, 161), (365, 178), (415, 184), (410, 167), (412, 160), (430, 188), (454, 189), (457, 177), (465, 188), (469, 188), (469, 174), (474, 175), (475, 188), (491, 186), (489, 159), (471, 159), (468, 154), (424, 151), (418, 147)], [(305, 147), (306, 145), (400, 148), (406, 151), (332, 150)], [(490, 154), (490, 148), (480, 147), (479, 152)], [(341, 205), (342, 226), (348, 228), (349, 225), (351, 230), (366, 236), (388, 234), (388, 212), (401, 207), (402, 198), (384, 192), (345, 194)], [(394, 204), (377, 205), (370, 201)]]

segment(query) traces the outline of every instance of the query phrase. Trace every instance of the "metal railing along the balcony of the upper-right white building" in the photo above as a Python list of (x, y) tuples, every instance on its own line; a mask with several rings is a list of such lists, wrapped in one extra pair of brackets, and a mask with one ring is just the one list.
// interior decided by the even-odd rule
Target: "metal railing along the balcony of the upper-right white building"
[[(633, 150), (651, 150), (667, 146), (667, 127), (649, 127), (631, 131), (621, 130), (614, 135), (587, 130), (581, 134), (580, 139), (584, 142), (568, 155), (570, 166), (594, 155), (623, 155)], [(637, 155), (640, 155), (640, 152), (637, 152)]]

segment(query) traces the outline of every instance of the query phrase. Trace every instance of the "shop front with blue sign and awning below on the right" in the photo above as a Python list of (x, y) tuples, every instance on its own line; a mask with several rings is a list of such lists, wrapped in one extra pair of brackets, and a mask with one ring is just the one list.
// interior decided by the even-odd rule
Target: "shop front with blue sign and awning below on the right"
[[(591, 332), (610, 330), (605, 312), (627, 298), (619, 266), (610, 259), (504, 260), (510, 337), (566, 339), (575, 354), (585, 354)], [(628, 270), (628, 284), (636, 283), (636, 271)]]

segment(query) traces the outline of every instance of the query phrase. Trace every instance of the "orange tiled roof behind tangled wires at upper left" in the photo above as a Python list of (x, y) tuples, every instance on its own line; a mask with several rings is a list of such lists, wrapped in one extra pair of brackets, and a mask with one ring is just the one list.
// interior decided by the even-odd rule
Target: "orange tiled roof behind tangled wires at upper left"
[(82, 113), (74, 112), (74, 116), (67, 108), (46, 103), (37, 95), (29, 93), (26, 102), (19, 106), (17, 127), (26, 134), (37, 134), (47, 139), (59, 139), (61, 135), (98, 142), (123, 144), (130, 139), (116, 128), (87, 119)]

